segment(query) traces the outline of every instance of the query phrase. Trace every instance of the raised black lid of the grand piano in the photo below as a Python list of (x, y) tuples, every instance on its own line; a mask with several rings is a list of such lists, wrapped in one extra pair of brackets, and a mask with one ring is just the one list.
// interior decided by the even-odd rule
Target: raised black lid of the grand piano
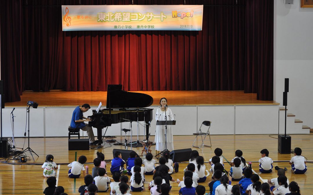
[(124, 91), (122, 85), (108, 85), (106, 108), (145, 108), (152, 103), (150, 95)]

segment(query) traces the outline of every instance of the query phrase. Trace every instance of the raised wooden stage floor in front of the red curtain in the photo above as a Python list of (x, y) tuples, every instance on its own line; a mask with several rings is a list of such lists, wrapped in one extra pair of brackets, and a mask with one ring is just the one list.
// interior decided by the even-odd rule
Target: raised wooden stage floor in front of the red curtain
[[(255, 93), (244, 91), (133, 91), (153, 97), (152, 105), (159, 105), (162, 97), (166, 97), (168, 105), (273, 105), (275, 101), (256, 99)], [(77, 106), (84, 103), (98, 106), (106, 105), (106, 91), (49, 91), (23, 92), (21, 101), (8, 102), (6, 107), (25, 106), (27, 101), (35, 101), (39, 106)]]

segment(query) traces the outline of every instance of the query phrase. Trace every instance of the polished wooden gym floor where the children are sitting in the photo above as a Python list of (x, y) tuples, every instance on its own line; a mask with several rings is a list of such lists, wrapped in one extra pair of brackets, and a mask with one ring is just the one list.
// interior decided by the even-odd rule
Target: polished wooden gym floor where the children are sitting
[[(277, 135), (274, 136), (277, 138)], [(313, 157), (313, 137), (312, 135), (291, 135), (292, 137), (292, 145), (291, 148), (300, 147), (302, 149), (302, 155), (308, 158), (312, 162)], [(121, 138), (115, 138), (120, 142)], [(122, 137), (124, 139), (124, 137)], [(192, 148), (193, 136), (174, 136), (174, 148), (175, 149), (185, 149)], [(235, 150), (241, 149), (243, 151), (243, 156), (247, 160), (247, 162), (252, 161), (252, 168), (254, 171), (259, 174), (262, 179), (270, 179), (277, 177), (277, 171), (273, 171), (273, 173), (259, 173), (257, 161), (261, 157), (260, 151), (261, 149), (267, 148), (269, 150), (269, 157), (274, 160), (273, 166), (286, 167), (288, 171), (286, 172), (287, 178), (289, 181), (296, 181), (301, 190), (301, 194), (308, 195), (311, 194), (313, 189), (313, 172), (312, 172), (312, 163), (306, 163), (308, 167), (308, 171), (305, 174), (295, 175), (291, 173), (290, 166), (288, 162), (277, 162), (277, 161), (289, 161), (293, 154), (279, 154), (277, 151), (277, 139), (270, 138), (268, 135), (212, 135), (212, 148), (201, 148), (197, 149), (199, 154), (204, 157), (204, 161), (208, 162), (210, 158), (214, 155), (215, 148), (223, 149), (223, 158), (224, 165), (226, 170), (229, 171), (230, 166), (228, 161), (230, 161), (234, 157)], [(142, 137), (141, 137), (142, 140)], [(151, 140), (154, 140), (153, 136), (151, 136)], [(16, 147), (17, 148), (26, 148), (28, 140), (26, 140), (24, 144), (24, 138), (17, 138)], [(110, 146), (108, 143), (105, 144), (104, 147)], [(59, 164), (60, 168), (58, 170), (57, 176), (57, 185), (63, 186), (65, 189), (65, 193), (67, 194), (78, 194), (78, 188), (84, 184), (84, 178), (80, 177), (78, 179), (68, 178), (68, 167), (67, 164), (77, 159), (80, 155), (87, 156), (87, 162), (89, 162), (90, 171), (93, 167), (91, 163), (93, 159), (96, 157), (96, 152), (100, 151), (105, 154), (105, 159), (112, 159), (112, 150), (113, 149), (124, 149), (124, 146), (115, 146), (112, 145), (109, 148), (94, 150), (90, 149), (85, 151), (68, 151), (68, 139), (67, 138), (31, 138), (30, 139), (30, 148), (33, 149), (38, 155), (39, 158), (35, 158), (34, 163), (38, 163), (37, 165), (26, 165), (23, 164), (4, 164), (0, 163), (0, 194), (42, 194), (44, 188), (47, 187), (46, 178), (43, 176), (43, 170), (41, 169), (42, 164), (45, 161), (45, 157), (47, 154), (54, 155), (54, 162)], [(152, 154), (156, 154), (155, 146), (151, 147)], [(192, 148), (196, 149), (196, 148)], [(141, 154), (141, 148), (133, 148), (138, 154)], [(28, 158), (30, 154), (26, 152)], [(35, 156), (37, 157), (37, 156)], [(3, 160), (3, 159), (2, 159)], [(30, 160), (28, 163), (33, 163), (33, 160)], [(87, 165), (87, 164), (85, 164)], [(208, 163), (205, 163), (207, 170), (209, 170), (210, 166)], [(179, 178), (182, 181), (183, 177), (183, 169), (187, 166), (187, 163), (181, 163), (179, 165), (179, 172), (173, 173), (172, 177), (174, 179)], [(110, 168), (110, 163), (107, 163), (107, 168)], [(112, 175), (108, 174), (109, 177)], [(208, 192), (208, 182), (210, 181), (210, 176), (208, 176), (207, 181), (205, 183), (200, 183), (204, 185)], [(150, 191), (147, 186), (149, 182), (152, 180), (152, 176), (146, 176), (146, 182), (144, 183), (144, 191), (132, 192), (131, 194), (139, 195), (149, 195)], [(179, 188), (177, 183), (171, 183), (172, 190), (170, 194), (178, 194)], [(100, 194), (109, 194), (106, 193), (98, 193)]]

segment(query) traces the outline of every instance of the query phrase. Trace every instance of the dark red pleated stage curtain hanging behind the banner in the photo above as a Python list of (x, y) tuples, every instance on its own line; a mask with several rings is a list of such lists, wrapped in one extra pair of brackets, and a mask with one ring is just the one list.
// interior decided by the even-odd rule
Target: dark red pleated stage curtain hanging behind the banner
[[(85, 5), (132, 3), (131, 0), (81, 2)], [(18, 100), (22, 90), (104, 91), (108, 84), (122, 84), (124, 90), (131, 91), (245, 90), (257, 92), (260, 100), (273, 98), (273, 75), (264, 72), (273, 69), (273, 62), (269, 63), (270, 57), (273, 59), (273, 48), (270, 50), (273, 28), (265, 26), (270, 20), (266, 14), (273, 12), (273, 2), (269, 0), (264, 3), (186, 0), (186, 4), (224, 5), (204, 6), (202, 31), (62, 32), (61, 8), (55, 5), (77, 3), (75, 0), (28, 1), (26, 6), (23, 1), (19, 16), (22, 45), (16, 46), (21, 50), (23, 63), (15, 74), (23, 88), (16, 90), (18, 85), (12, 84), (9, 88), (17, 92), (6, 101)], [(184, 4), (184, 1), (134, 3), (162, 5)], [(256, 17), (262, 20), (259, 24), (254, 24), (256, 11)], [(13, 38), (1, 37), (13, 41), (18, 33), (11, 32)], [(8, 66), (3, 69), (14, 74), (13, 64)], [(7, 79), (5, 85), (12, 81)]]

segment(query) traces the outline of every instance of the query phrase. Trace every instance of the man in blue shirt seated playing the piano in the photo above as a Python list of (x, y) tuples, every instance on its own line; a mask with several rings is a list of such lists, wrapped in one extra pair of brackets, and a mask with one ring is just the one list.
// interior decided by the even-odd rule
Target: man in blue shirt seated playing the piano
[(80, 128), (83, 131), (87, 131), (90, 145), (96, 145), (98, 144), (98, 140), (95, 141), (95, 136), (94, 132), (92, 131), (92, 127), (88, 126), (88, 124), (85, 123), (90, 121), (90, 119), (83, 116), (83, 113), (87, 112), (89, 109), (90, 109), (89, 104), (77, 106), (73, 111), (71, 127)]

